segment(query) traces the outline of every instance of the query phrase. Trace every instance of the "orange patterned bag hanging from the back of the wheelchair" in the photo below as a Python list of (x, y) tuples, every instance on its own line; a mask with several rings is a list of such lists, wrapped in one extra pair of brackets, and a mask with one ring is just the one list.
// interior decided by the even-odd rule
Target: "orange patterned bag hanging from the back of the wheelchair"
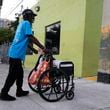
[[(29, 78), (29, 83), (30, 84), (37, 84), (41, 74), (46, 71), (47, 69), (49, 69), (49, 62), (50, 61), (43, 61), (41, 64), (39, 64), (39, 68), (37, 71), (33, 70), (30, 78)], [(44, 83), (47, 83), (49, 82), (49, 79), (48, 78), (45, 78), (44, 80)]]

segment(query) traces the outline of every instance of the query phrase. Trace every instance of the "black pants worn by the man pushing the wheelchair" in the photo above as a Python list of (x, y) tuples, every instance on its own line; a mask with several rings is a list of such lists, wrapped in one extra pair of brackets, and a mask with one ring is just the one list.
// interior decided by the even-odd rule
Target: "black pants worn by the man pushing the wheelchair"
[(9, 74), (2, 88), (2, 93), (8, 93), (15, 81), (17, 89), (21, 89), (23, 85), (23, 76), (22, 61), (20, 59), (9, 58)]

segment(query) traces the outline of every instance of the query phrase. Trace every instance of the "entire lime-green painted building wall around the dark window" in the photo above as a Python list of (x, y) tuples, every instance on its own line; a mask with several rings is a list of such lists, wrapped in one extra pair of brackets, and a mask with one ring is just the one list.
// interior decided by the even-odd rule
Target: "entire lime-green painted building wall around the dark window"
[[(33, 25), (35, 36), (44, 43), (45, 26), (61, 21), (60, 54), (55, 58), (73, 61), (76, 77), (97, 72), (102, 2), (40, 0), (40, 12)], [(27, 59), (26, 66), (33, 66), (36, 56)]]

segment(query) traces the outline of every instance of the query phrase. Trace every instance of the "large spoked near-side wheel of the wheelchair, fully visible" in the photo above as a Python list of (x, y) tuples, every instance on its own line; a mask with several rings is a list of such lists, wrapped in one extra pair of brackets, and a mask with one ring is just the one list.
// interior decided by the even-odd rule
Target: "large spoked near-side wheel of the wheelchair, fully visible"
[[(48, 88), (47, 91), (42, 91)], [(62, 99), (68, 90), (68, 77), (60, 69), (45, 71), (38, 81), (40, 96), (48, 102), (56, 102)]]

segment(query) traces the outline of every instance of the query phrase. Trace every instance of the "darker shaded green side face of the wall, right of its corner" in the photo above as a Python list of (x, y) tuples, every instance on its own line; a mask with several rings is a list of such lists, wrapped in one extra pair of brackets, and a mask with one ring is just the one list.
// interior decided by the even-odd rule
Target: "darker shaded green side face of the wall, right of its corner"
[(103, 0), (86, 0), (82, 76), (97, 74)]

